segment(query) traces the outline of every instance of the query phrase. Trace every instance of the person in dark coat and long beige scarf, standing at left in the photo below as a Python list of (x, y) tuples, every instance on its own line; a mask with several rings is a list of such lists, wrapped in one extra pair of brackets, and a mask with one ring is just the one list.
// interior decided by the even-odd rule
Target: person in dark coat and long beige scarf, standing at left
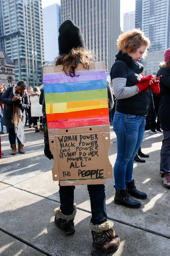
[[(22, 118), (22, 112), (30, 107), (28, 94), (25, 93), (26, 88), (26, 82), (19, 81), (14, 87), (8, 87), (0, 97), (4, 104), (3, 124), (9, 129), (11, 154), (16, 154), (16, 126)], [(19, 153), (25, 153), (23, 144), (18, 138), (17, 141)]]

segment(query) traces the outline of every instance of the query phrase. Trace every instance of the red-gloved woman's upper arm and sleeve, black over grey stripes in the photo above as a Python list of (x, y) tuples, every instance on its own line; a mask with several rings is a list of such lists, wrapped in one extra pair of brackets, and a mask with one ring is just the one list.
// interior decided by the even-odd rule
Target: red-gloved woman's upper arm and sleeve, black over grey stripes
[(139, 88), (134, 85), (126, 87), (127, 65), (123, 61), (116, 61), (111, 68), (111, 81), (116, 99), (130, 98), (139, 93)]

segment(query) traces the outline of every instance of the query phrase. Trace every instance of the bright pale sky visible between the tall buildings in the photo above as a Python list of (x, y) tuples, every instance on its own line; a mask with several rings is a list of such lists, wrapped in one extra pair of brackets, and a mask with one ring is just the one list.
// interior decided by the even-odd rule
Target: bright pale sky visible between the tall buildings
[[(42, 0), (42, 8), (53, 3), (60, 4), (60, 0)], [(120, 3), (120, 26), (123, 29), (123, 14), (135, 10), (135, 0), (120, 0)]]

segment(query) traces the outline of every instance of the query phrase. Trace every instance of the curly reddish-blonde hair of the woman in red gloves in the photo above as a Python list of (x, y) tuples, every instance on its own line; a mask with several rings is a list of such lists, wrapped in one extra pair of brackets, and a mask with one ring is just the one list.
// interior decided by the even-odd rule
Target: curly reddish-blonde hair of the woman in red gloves
[[(146, 45), (150, 47), (150, 40), (144, 35), (141, 29), (132, 29), (119, 35), (117, 45), (122, 53), (136, 52), (139, 47)], [(147, 49), (143, 54), (143, 58), (147, 56)]]

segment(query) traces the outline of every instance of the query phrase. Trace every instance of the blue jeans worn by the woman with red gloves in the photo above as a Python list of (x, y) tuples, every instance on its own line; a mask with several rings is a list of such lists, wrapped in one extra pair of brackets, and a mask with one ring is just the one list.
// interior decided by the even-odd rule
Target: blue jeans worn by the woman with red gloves
[(117, 157), (114, 165), (115, 187), (126, 188), (126, 182), (133, 181), (133, 161), (144, 137), (145, 116), (127, 115), (115, 112), (113, 130), (117, 137)]

